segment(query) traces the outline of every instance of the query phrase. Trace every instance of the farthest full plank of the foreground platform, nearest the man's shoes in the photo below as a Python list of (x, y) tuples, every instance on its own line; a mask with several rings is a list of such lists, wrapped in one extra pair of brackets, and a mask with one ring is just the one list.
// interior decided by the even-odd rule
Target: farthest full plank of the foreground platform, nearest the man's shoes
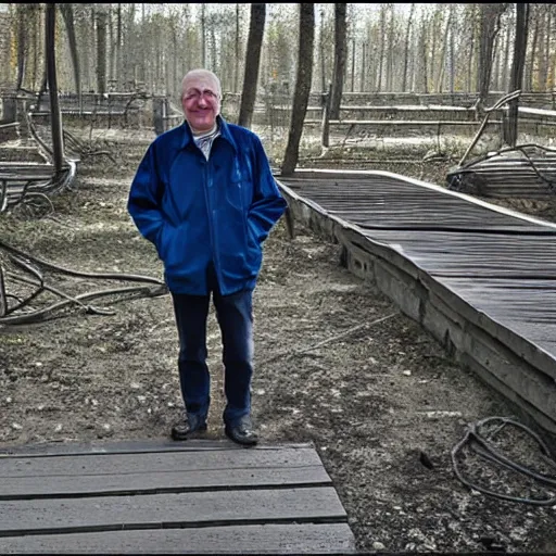
[(50, 477), (84, 475), (180, 472), (188, 470), (225, 470), (250, 468), (291, 468), (320, 465), (312, 448), (225, 450), (204, 452), (166, 452), (137, 454), (92, 454), (60, 457), (1, 458), (0, 479), (14, 477)]

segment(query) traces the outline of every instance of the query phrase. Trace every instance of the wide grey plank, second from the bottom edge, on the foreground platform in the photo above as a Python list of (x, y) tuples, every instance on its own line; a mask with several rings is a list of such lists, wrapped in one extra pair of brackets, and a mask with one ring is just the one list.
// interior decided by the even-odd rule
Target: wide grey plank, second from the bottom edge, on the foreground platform
[(139, 494), (2, 502), (0, 535), (345, 519), (332, 486)]

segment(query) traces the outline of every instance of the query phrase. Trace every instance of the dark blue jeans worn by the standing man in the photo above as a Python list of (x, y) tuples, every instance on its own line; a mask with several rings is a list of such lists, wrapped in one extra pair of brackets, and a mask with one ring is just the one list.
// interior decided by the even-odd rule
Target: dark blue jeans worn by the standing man
[(214, 273), (210, 271), (208, 295), (173, 293), (174, 312), (179, 333), (179, 381), (188, 413), (206, 418), (211, 403), (211, 377), (206, 365), (206, 318), (213, 296), (222, 332), (224, 422), (233, 426), (251, 413), (251, 377), (253, 376), (252, 290), (220, 295)]

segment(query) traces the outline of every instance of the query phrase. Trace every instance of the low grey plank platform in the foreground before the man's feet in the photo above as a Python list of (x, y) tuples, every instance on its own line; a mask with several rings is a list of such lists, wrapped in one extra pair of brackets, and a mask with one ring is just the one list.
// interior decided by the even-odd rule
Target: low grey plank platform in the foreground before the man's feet
[(0, 451), (0, 554), (353, 552), (345, 510), (309, 445)]

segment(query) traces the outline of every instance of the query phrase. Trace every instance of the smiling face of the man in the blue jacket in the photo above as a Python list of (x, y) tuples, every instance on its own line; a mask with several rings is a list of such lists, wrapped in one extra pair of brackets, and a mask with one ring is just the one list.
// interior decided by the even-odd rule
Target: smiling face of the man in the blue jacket
[(210, 131), (220, 113), (220, 91), (214, 77), (211, 74), (186, 77), (181, 105), (193, 132)]

